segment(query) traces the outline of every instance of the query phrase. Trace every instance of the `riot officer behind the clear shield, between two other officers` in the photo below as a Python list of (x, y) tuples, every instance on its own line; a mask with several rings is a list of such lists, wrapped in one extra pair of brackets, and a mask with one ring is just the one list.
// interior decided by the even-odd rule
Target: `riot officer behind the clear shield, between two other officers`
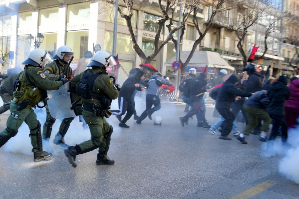
[[(68, 62), (70, 61), (71, 57), (74, 55), (73, 50), (68, 46), (61, 46), (57, 49), (56, 55), (54, 55), (54, 61), (50, 64), (47, 64), (44, 68), (44, 73), (46, 77), (50, 80), (60, 80), (61, 78), (70, 79), (73, 77), (73, 72), (71, 67), (67, 67)], [(64, 72), (66, 73), (64, 74)], [(49, 140), (51, 137), (52, 126), (55, 122), (55, 118), (53, 118), (49, 112), (48, 106), (46, 106), (46, 122), (44, 124), (44, 128), (42, 131), (43, 138), (46, 141)], [(70, 127), (71, 121), (74, 120), (74, 117), (71, 118), (64, 118), (60, 124), (59, 131), (57, 132), (53, 143), (58, 144), (64, 148), (67, 148), (68, 145), (64, 142), (64, 136)]]

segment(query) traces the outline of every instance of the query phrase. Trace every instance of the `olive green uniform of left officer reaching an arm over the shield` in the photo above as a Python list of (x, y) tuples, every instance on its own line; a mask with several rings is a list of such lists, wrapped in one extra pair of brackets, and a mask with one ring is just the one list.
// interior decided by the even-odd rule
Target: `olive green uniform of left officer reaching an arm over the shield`
[[(62, 81), (51, 81), (45, 78), (45, 74), (39, 67), (26, 65), (28, 67), (28, 78), (25, 76), (25, 70), (17, 77), (22, 84), (19, 91), (13, 93), (13, 101), (10, 104), (10, 116), (7, 118), (6, 129), (0, 132), (0, 147), (3, 146), (11, 137), (14, 137), (21, 124), (25, 121), (30, 129), (30, 139), (33, 146), (32, 152), (42, 151), (42, 136), (40, 132), (40, 123), (32, 107), (42, 100), (40, 89), (55, 90), (62, 86)], [(17, 109), (21, 101), (29, 101), (29, 104), (22, 110)], [(47, 153), (48, 154), (48, 153)]]

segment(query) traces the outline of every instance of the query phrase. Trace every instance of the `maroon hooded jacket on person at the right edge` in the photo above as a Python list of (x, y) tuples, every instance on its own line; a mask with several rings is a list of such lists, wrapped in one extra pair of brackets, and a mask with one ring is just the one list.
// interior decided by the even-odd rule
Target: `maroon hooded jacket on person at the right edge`
[(299, 109), (299, 79), (293, 80), (289, 84), (290, 97), (285, 101), (285, 106), (293, 109)]

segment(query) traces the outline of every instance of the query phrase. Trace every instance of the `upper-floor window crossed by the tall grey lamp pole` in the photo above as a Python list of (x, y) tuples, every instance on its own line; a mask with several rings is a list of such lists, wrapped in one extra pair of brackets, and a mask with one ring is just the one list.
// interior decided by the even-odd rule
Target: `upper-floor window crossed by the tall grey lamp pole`
[[(119, 8), (124, 14), (126, 14), (126, 15), (129, 14), (129, 10), (126, 7), (120, 6)], [(114, 23), (114, 5), (113, 4), (107, 4), (105, 21)], [(117, 24), (127, 26), (126, 20), (124, 18), (122, 18), (119, 13), (117, 14)], [(133, 28), (137, 27), (137, 10), (132, 10), (131, 24), (132, 24)]]

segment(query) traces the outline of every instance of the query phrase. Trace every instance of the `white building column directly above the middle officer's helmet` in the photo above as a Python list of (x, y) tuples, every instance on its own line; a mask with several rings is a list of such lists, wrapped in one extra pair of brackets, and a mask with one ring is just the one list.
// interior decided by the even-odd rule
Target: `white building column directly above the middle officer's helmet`
[(66, 30), (66, 5), (60, 5), (58, 8), (58, 18), (57, 25), (59, 27), (57, 31), (57, 45), (54, 49), (56, 53), (57, 48), (65, 45), (65, 30)]

